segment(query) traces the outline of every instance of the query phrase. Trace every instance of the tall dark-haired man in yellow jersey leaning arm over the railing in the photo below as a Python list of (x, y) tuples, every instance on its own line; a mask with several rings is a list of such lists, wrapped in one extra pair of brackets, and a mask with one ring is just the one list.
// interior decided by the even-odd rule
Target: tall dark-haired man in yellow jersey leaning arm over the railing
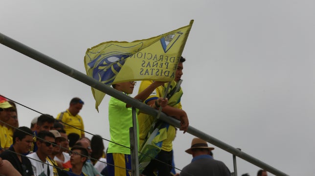
[[(182, 96), (182, 90), (180, 88), (181, 83), (181, 75), (183, 65), (182, 63), (186, 59), (183, 57), (180, 57), (180, 62), (177, 66), (175, 79), (171, 81), (170, 90), (167, 93), (168, 98), (168, 105), (162, 108), (162, 112), (167, 114), (168, 116), (175, 117), (176, 119), (180, 120), (180, 130), (184, 131), (184, 133), (188, 129), (189, 121), (188, 117), (185, 111), (181, 109), (180, 104), (180, 98)], [(153, 84), (154, 81), (144, 80), (140, 84), (139, 92), (143, 91), (146, 87)], [(159, 97), (163, 97), (165, 94), (166, 85), (159, 86), (150, 96), (145, 100), (145, 103), (148, 105), (155, 104), (158, 106), (159, 104)], [(140, 139), (140, 148), (143, 145), (143, 142), (145, 141), (146, 137), (148, 136), (149, 130), (152, 127), (152, 124), (155, 122), (155, 117), (140, 113), (138, 115), (138, 121), (139, 121), (139, 139)], [(172, 141), (175, 138), (176, 129), (174, 126), (164, 123), (164, 127), (166, 129), (166, 138), (161, 139), (162, 145), (161, 145), (161, 151), (158, 153), (157, 159), (162, 161), (158, 161), (155, 159), (152, 159), (149, 165), (145, 168), (145, 170), (142, 172), (142, 174), (146, 176), (154, 176), (154, 170), (158, 170), (159, 176), (168, 176), (171, 169), (172, 169), (172, 157), (173, 157), (173, 145)], [(167, 163), (167, 164), (165, 164)]]

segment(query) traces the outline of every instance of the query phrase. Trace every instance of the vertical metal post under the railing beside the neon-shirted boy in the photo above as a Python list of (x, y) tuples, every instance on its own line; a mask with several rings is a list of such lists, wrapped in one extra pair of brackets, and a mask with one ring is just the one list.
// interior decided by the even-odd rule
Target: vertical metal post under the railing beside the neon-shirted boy
[(132, 170), (132, 176), (139, 176), (137, 120), (136, 120), (136, 110), (134, 107), (132, 108), (132, 112), (133, 112), (133, 127), (129, 128), (131, 170)]

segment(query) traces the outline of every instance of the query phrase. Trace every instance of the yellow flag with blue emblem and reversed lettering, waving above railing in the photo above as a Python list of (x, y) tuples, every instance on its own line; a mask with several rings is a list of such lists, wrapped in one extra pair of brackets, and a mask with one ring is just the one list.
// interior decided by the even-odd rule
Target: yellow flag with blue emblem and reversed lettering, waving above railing
[[(133, 80), (171, 81), (192, 24), (193, 20), (150, 39), (107, 41), (93, 46), (84, 58), (87, 75), (107, 85)], [(98, 110), (105, 93), (91, 89)]]

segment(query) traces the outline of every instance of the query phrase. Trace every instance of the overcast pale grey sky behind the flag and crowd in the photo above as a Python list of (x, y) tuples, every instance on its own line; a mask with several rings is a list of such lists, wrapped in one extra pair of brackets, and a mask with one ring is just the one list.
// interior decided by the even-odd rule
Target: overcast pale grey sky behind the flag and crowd
[[(82, 73), (85, 52), (94, 45), (147, 39), (195, 20), (183, 51), (187, 61), (181, 102), (190, 125), (288, 175), (314, 175), (315, 1), (0, 0), (0, 4), (0, 33)], [(85, 129), (110, 139), (109, 96), (97, 113), (88, 85), (4, 45), (0, 65), (0, 94), (54, 117), (67, 109), (71, 98), (80, 97), (85, 101), (80, 112)], [(18, 115), (21, 126), (30, 126), (39, 116), (22, 106)], [(191, 161), (184, 150), (192, 138), (178, 133), (174, 141), (180, 169)], [(214, 158), (233, 172), (232, 155), (214, 147)], [(237, 166), (239, 176), (256, 176), (259, 170), (241, 158)]]

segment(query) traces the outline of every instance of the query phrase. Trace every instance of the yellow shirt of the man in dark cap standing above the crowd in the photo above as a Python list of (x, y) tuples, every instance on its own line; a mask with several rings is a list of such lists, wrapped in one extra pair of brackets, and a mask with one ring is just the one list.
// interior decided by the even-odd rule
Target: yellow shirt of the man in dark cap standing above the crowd
[[(78, 114), (76, 116), (72, 116), (71, 113), (69, 112), (69, 110), (67, 109), (67, 111), (58, 114), (56, 119), (61, 120), (62, 122), (66, 123), (66, 124), (64, 124), (64, 126), (65, 126), (64, 129), (65, 129), (67, 135), (70, 133), (76, 133), (80, 137), (82, 135), (84, 135), (83, 119)], [(80, 130), (73, 128), (67, 124), (72, 125), (72, 126), (78, 128)]]

